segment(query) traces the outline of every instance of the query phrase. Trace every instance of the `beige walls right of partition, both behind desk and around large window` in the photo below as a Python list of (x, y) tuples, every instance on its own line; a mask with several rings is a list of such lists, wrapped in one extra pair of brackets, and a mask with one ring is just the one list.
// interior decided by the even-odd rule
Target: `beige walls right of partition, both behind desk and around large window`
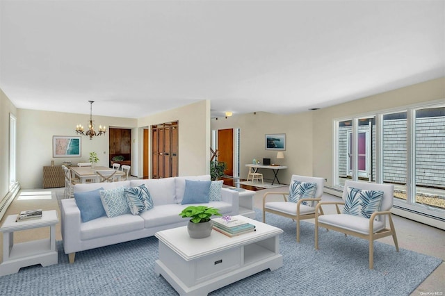
[[(257, 115), (249, 113), (227, 119), (220, 117), (218, 120), (211, 120), (211, 129), (241, 129), (240, 176), (243, 179), (248, 172), (244, 165), (252, 163), (253, 158), (271, 158), (272, 162), (277, 162), (276, 151), (264, 149), (264, 135), (286, 133), (285, 158), (279, 162), (289, 168), (280, 171), (280, 181), (289, 183), (291, 174), (302, 174), (321, 176), (327, 179), (325, 186), (332, 186), (334, 119), (438, 99), (445, 99), (445, 78), (305, 113), (275, 115), (257, 112)], [(272, 177), (270, 172), (266, 172), (265, 178)]]

